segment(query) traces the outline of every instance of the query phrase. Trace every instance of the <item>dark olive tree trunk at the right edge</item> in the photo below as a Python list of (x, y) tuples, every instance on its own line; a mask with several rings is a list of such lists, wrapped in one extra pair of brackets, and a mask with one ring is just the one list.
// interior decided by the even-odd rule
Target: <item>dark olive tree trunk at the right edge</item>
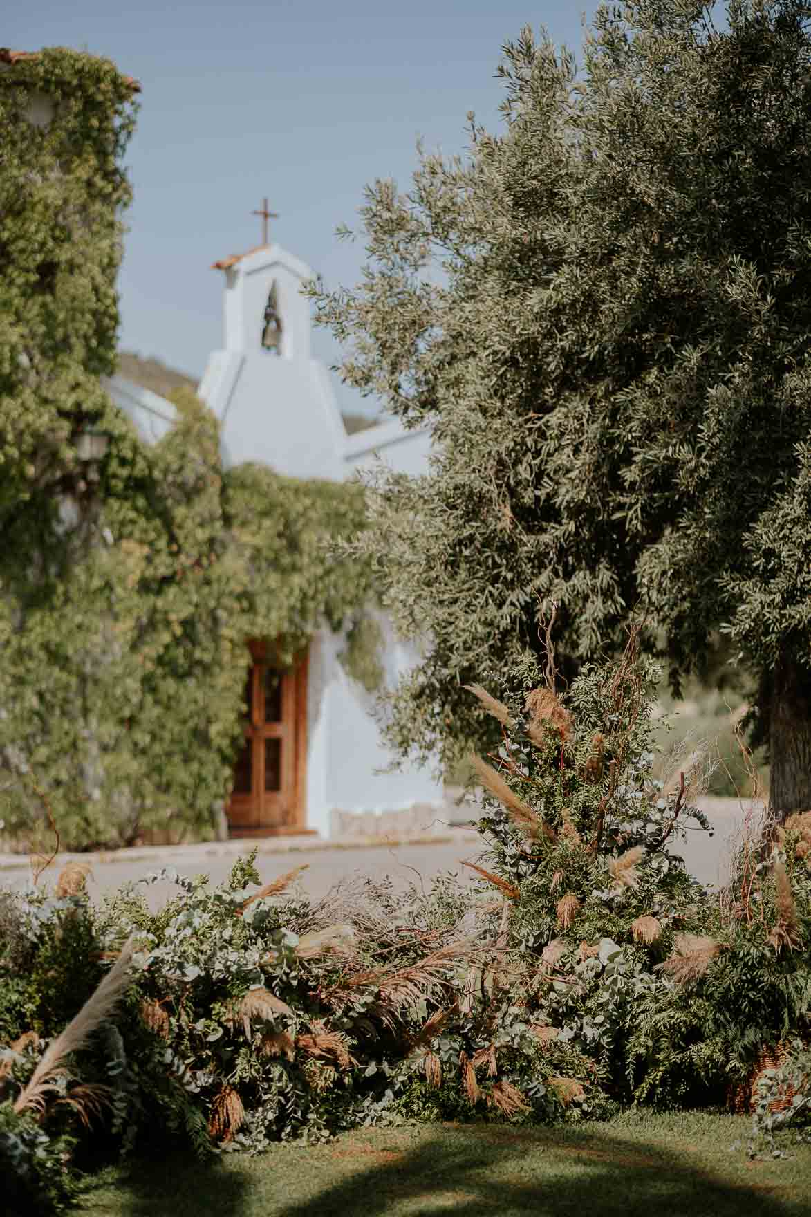
[(770, 716), (770, 806), (781, 823), (811, 811), (811, 674), (782, 656)]

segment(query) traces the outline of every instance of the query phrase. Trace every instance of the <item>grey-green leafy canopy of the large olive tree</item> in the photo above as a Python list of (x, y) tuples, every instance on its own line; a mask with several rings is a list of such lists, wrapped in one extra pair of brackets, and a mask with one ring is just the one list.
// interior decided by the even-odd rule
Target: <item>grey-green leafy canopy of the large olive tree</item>
[(463, 686), (538, 654), (549, 600), (569, 679), (642, 607), (675, 683), (718, 629), (761, 711), (779, 657), (809, 683), (807, 5), (710, 7), (599, 5), (580, 75), (522, 30), (504, 129), (470, 116), (468, 157), (368, 187), (363, 281), (313, 287), (348, 382), (436, 439), (427, 476), (373, 481), (359, 543), (430, 640), (403, 757), (493, 745)]

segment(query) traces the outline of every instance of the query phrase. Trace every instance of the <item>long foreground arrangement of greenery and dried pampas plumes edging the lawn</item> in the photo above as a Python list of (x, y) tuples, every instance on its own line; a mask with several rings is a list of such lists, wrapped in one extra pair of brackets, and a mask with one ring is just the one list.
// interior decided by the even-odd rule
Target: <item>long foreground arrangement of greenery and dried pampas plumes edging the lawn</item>
[[(358, 1125), (732, 1101), (765, 1048), (807, 1041), (811, 819), (744, 848), (720, 897), (692, 880), (673, 845), (707, 826), (689, 774), (672, 793), (650, 778), (656, 678), (631, 646), (565, 706), (533, 661), (508, 702), (474, 686), (504, 728), (498, 769), (476, 762), (475, 886), (354, 881), (313, 902), (298, 869), (259, 886), (250, 857), (213, 890), (149, 876), (178, 888), (157, 913), (141, 885), (91, 908), (77, 867), (52, 894), (6, 893), (0, 1155), (18, 1188), (69, 1201), (82, 1117), (96, 1151), (157, 1134), (256, 1152)], [(121, 977), (99, 1020), (99, 986)]]

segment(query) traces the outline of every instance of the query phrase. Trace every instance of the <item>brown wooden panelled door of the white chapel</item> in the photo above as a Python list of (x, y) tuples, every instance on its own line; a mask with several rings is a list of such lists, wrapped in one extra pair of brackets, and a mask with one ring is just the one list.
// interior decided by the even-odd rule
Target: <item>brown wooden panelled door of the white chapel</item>
[(231, 836), (303, 832), (307, 765), (307, 656), (280, 669), (251, 644), (245, 742), (228, 807)]

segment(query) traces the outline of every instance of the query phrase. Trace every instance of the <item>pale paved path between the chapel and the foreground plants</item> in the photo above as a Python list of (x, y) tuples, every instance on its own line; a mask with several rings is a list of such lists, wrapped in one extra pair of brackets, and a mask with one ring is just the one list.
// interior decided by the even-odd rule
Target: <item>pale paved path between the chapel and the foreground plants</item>
[[(690, 831), (684, 843), (678, 843), (673, 852), (681, 853), (688, 869), (704, 884), (718, 884), (726, 871), (731, 837), (739, 829), (744, 813), (737, 800), (703, 800), (715, 828), (709, 837), (705, 832)], [(229, 873), (234, 859), (251, 848), (250, 842), (229, 841), (224, 843), (206, 843), (180, 847), (151, 847), (119, 851), (101, 856), (79, 856), (91, 863), (93, 877), (89, 890), (93, 899), (106, 892), (114, 891), (128, 880), (138, 880), (149, 871), (173, 865), (179, 874), (208, 874), (212, 882), (220, 882)], [(437, 840), (424, 840), (403, 845), (362, 843), (331, 847), (329, 842), (312, 837), (287, 839), (286, 841), (261, 842), (257, 867), (263, 882), (307, 864), (301, 876), (304, 891), (318, 899), (339, 880), (352, 875), (382, 879), (390, 875), (397, 887), (410, 882), (425, 884), (440, 874), (451, 871), (464, 880), (475, 877), (462, 867), (460, 859), (475, 859), (481, 849), (479, 835), (460, 825), (448, 828), (446, 835)], [(74, 856), (75, 857), (75, 856)], [(21, 887), (28, 879), (28, 868), (21, 867), (22, 859), (16, 859), (13, 869), (0, 867), (0, 885)], [(9, 859), (6, 859), (9, 862)], [(60, 859), (61, 862), (61, 859)], [(58, 864), (58, 862), (57, 862)], [(56, 874), (56, 867), (51, 874)], [(153, 885), (146, 888), (150, 904), (156, 908), (173, 891), (172, 885)]]

